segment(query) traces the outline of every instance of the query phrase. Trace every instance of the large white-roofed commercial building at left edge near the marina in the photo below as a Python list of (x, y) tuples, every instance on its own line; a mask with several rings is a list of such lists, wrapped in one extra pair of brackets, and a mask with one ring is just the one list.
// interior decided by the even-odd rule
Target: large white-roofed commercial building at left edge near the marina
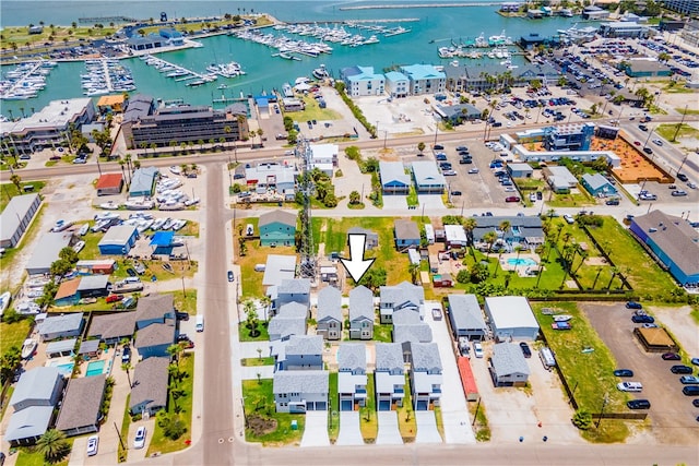
[(69, 130), (80, 130), (95, 120), (95, 106), (90, 97), (51, 100), (39, 111), (16, 121), (0, 122), (0, 145), (19, 154), (31, 154), (44, 147), (60, 146), (69, 141)]

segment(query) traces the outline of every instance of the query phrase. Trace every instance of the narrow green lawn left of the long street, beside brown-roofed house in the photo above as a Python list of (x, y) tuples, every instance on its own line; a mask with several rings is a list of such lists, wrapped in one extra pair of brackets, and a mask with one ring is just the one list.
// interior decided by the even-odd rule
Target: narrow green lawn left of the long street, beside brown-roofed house
[[(176, 415), (177, 408), (180, 409), (179, 417), (187, 427), (185, 433), (177, 440), (168, 439), (163, 433), (163, 428), (155, 422), (155, 431), (151, 438), (151, 444), (146, 456), (152, 455), (155, 452), (171, 453), (185, 450), (189, 446), (186, 441), (190, 439), (192, 427), (192, 398), (194, 389), (194, 356), (185, 353), (179, 362), (179, 369), (185, 373), (181, 382), (177, 384), (179, 389), (183, 391), (183, 395), (175, 401), (171, 396), (167, 403), (167, 413), (169, 415)], [(174, 383), (174, 382), (171, 382)]]

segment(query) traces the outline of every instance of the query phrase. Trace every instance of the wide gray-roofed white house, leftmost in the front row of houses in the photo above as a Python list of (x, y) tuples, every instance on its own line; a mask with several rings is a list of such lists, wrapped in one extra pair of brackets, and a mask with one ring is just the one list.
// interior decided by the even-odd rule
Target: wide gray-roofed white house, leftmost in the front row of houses
[(277, 413), (328, 409), (329, 373), (323, 370), (274, 372), (272, 392)]

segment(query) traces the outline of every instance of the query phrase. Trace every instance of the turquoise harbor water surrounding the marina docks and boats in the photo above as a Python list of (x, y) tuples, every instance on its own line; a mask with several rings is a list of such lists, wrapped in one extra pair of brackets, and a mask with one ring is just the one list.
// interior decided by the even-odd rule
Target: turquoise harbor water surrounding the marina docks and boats
[[(420, 0), (416, 3), (440, 3), (439, 0)], [(138, 89), (135, 92), (150, 94), (163, 99), (182, 98), (194, 105), (212, 105), (214, 98), (222, 94), (225, 97), (239, 97), (240, 94), (259, 94), (262, 91), (271, 92), (281, 88), (283, 83), (292, 82), (297, 76), (309, 75), (321, 63), (336, 76), (342, 68), (359, 65), (375, 67), (377, 72), (394, 64), (433, 63), (447, 65), (450, 60), (442, 60), (437, 55), (438, 47), (449, 46), (450, 40), (473, 39), (483, 33), (486, 37), (499, 35), (503, 29), (513, 40), (529, 33), (538, 33), (542, 36), (556, 34), (557, 29), (567, 28), (578, 20), (550, 17), (545, 20), (508, 19), (496, 13), (496, 7), (469, 7), (469, 8), (400, 8), (400, 9), (369, 9), (369, 10), (340, 10), (342, 7), (360, 4), (404, 4), (411, 2), (391, 1), (254, 1), (254, 2), (221, 2), (192, 0), (180, 1), (154, 1), (154, 2), (95, 2), (95, 1), (2, 1), (0, 2), (0, 17), (2, 26), (38, 24), (70, 25), (79, 17), (84, 16), (139, 16), (159, 19), (162, 11), (169, 17), (181, 16), (208, 16), (223, 15), (225, 13), (242, 13), (244, 9), (250, 12), (265, 12), (285, 22), (315, 21), (321, 25), (328, 21), (350, 20), (384, 20), (384, 19), (418, 19), (415, 22), (389, 23), (390, 26), (402, 25), (412, 32), (393, 37), (380, 36), (380, 43), (363, 47), (345, 47), (331, 44), (332, 55), (321, 55), (317, 58), (303, 57), (300, 61), (291, 61), (271, 57), (275, 50), (266, 46), (238, 39), (232, 36), (215, 36), (197, 39), (204, 47), (180, 50), (169, 53), (161, 53), (159, 57), (187, 67), (193, 71), (203, 72), (211, 62), (239, 62), (247, 75), (232, 80), (218, 79), (217, 81), (200, 86), (187, 87), (183, 82), (175, 82), (158, 73), (154, 68), (147, 67), (143, 61), (134, 58), (123, 60), (131, 68)], [(368, 31), (346, 28), (347, 32), (368, 35)], [(304, 38), (280, 31), (268, 28), (275, 35), (286, 34), (288, 37)], [(306, 37), (307, 40), (317, 40)], [(431, 43), (430, 43), (431, 41)], [(514, 50), (514, 47), (510, 47)], [(467, 60), (461, 63), (472, 63), (478, 67), (482, 63), (497, 63), (499, 60)], [(513, 58), (513, 63), (523, 63), (520, 57)], [(5, 68), (2, 68), (4, 71)], [(505, 70), (505, 69), (503, 69)], [(37, 97), (27, 100), (8, 100), (2, 103), (2, 113), (17, 118), (23, 113), (31, 113), (32, 109), (38, 110), (50, 100), (59, 98), (83, 97), (80, 87), (79, 75), (85, 72), (82, 62), (61, 63), (54, 69), (47, 79), (47, 86)], [(217, 89), (221, 83), (226, 83), (228, 88)], [(134, 92), (134, 93), (135, 93)], [(133, 94), (133, 93), (132, 93)], [(95, 97), (95, 101), (98, 97)]]

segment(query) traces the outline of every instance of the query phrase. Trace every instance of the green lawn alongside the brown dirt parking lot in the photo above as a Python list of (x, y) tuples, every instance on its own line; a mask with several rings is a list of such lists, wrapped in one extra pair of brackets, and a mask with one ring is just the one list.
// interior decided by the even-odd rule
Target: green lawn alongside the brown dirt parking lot
[[(556, 308), (560, 312), (572, 315), (572, 328), (565, 332), (553, 330), (550, 327), (553, 319), (550, 315), (542, 314), (543, 308)], [(556, 361), (566, 382), (574, 391), (578, 406), (590, 413), (599, 413), (606, 394), (607, 410), (617, 413), (626, 410), (627, 396), (616, 389), (618, 381), (613, 374), (616, 360), (577, 304), (574, 302), (534, 302), (532, 309), (548, 346), (556, 354)], [(594, 348), (594, 350), (582, 353), (584, 348)], [(583, 432), (583, 437), (597, 442), (624, 442), (630, 434), (623, 421), (605, 420), (602, 425), (604, 429), (591, 429)]]

